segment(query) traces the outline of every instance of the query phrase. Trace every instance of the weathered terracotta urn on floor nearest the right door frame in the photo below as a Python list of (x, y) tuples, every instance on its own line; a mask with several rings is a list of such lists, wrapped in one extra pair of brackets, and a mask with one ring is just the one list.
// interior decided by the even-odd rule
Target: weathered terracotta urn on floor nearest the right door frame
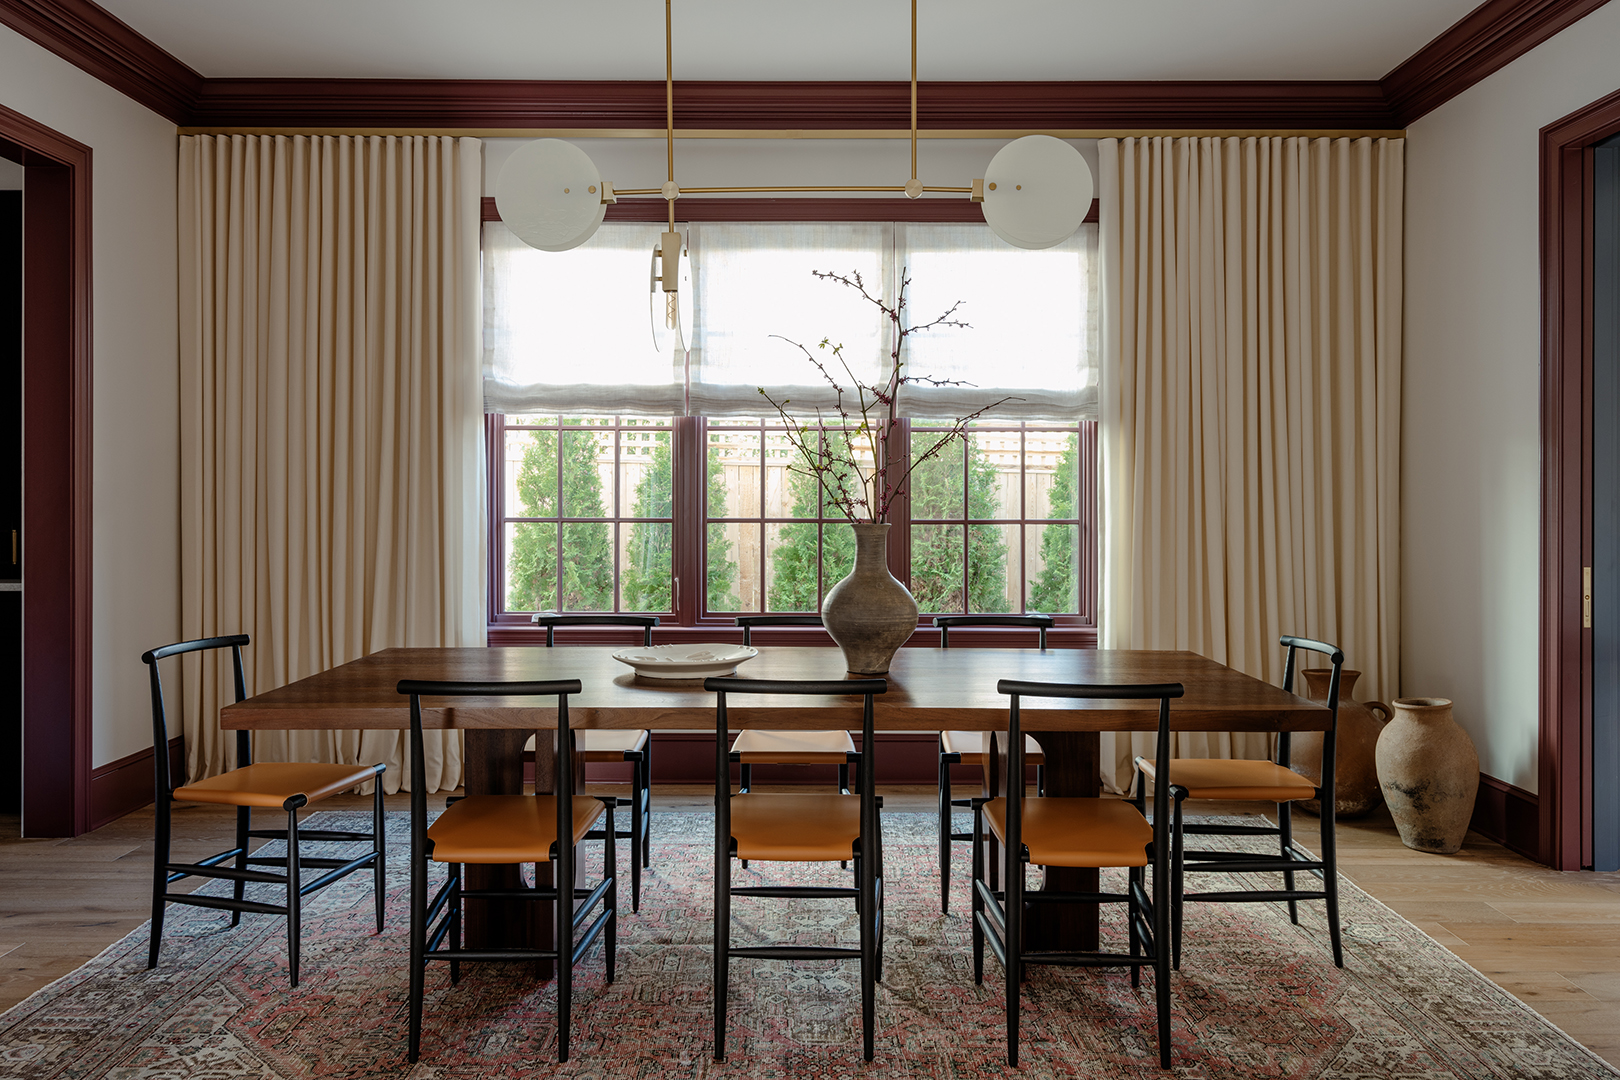
[(1479, 753), (1447, 698), (1396, 698), (1379, 735), (1379, 784), (1401, 844), (1450, 855), (1463, 847), (1479, 793)]

